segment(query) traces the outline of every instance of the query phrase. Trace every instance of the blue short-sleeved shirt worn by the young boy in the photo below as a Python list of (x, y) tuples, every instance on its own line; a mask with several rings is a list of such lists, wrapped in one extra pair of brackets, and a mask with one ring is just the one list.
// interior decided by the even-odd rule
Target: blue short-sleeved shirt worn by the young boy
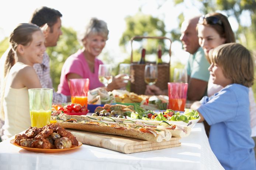
[(245, 86), (229, 84), (200, 101), (198, 111), (211, 126), (211, 149), (225, 170), (256, 170), (248, 93)]

